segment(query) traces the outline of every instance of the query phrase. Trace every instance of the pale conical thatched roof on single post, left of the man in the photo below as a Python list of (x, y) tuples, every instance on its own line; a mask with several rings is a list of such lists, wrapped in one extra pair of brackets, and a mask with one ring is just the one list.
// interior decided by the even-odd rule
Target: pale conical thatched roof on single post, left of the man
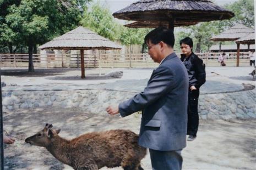
[(39, 47), (40, 49), (121, 49), (114, 42), (82, 26)]

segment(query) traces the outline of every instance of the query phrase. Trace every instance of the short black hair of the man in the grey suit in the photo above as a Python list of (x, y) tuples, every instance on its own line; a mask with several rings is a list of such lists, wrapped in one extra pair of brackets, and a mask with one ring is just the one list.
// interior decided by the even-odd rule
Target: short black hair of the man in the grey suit
[(157, 44), (162, 41), (173, 48), (175, 37), (172, 30), (166, 29), (165, 27), (157, 27), (145, 36), (145, 44), (148, 44), (149, 41), (151, 41), (152, 44)]

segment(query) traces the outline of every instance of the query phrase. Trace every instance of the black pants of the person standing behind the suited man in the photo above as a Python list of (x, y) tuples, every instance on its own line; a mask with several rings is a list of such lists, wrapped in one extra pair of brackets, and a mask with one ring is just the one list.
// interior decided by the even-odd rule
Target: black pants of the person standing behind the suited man
[(197, 136), (199, 116), (198, 116), (199, 89), (188, 92), (188, 128), (187, 134)]

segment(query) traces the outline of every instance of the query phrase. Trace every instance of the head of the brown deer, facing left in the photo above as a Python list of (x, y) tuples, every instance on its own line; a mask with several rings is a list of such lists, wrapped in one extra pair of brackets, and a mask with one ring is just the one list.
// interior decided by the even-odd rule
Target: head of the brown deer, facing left
[(61, 129), (52, 129), (52, 124), (46, 123), (42, 131), (26, 138), (25, 142), (31, 145), (47, 147), (50, 145), (52, 138), (58, 135), (59, 132), (61, 132)]

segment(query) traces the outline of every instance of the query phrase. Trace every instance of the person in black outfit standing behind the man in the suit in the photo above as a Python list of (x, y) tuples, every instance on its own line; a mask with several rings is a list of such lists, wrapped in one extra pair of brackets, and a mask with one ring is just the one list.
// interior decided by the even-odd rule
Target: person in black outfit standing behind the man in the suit
[(205, 83), (205, 65), (203, 60), (198, 58), (192, 51), (193, 40), (189, 37), (182, 39), (181, 45), (181, 60), (186, 66), (189, 78), (188, 92), (188, 141), (192, 141), (197, 137), (199, 116), (198, 116), (198, 97), (199, 88)]

